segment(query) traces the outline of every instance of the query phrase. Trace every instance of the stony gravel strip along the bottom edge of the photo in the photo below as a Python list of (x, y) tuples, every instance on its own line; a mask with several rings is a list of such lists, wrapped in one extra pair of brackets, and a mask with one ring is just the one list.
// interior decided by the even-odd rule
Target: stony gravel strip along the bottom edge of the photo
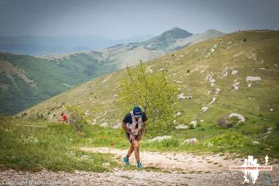
[[(75, 171), (40, 171), (36, 173), (14, 170), (0, 171), (0, 185), (3, 181), (26, 181), (25, 185), (243, 185), (243, 174), (231, 173), (158, 173), (147, 171), (122, 171), (115, 169), (107, 173)], [(33, 184), (31, 182), (34, 182)], [(30, 183), (29, 183), (30, 182)], [(267, 183), (267, 184), (266, 184)], [(6, 183), (7, 184), (7, 183)], [(278, 185), (277, 176), (259, 174), (255, 185)], [(8, 184), (7, 184), (8, 185)], [(22, 184), (21, 184), (22, 185)], [(252, 184), (250, 184), (252, 185)]]

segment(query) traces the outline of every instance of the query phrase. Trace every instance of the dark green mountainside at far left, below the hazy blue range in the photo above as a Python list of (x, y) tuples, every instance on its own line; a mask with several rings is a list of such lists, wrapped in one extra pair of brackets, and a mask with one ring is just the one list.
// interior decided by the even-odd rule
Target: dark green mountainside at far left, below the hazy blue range
[(52, 60), (0, 53), (0, 66), (0, 112), (6, 114), (15, 114), (116, 69), (97, 52)]

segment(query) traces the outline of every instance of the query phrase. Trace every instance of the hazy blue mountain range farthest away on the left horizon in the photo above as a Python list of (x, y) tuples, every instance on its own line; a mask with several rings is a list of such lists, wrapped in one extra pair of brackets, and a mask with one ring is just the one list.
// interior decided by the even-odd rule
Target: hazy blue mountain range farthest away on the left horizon
[(98, 35), (74, 36), (0, 36), (0, 52), (43, 56), (52, 53), (80, 52), (85, 50), (99, 50), (117, 43), (141, 42), (152, 38), (142, 35), (112, 40)]

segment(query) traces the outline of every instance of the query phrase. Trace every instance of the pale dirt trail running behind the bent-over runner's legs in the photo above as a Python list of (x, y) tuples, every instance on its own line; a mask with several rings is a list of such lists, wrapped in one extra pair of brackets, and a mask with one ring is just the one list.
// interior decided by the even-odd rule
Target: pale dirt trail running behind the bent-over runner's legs
[[(111, 153), (118, 157), (125, 157), (127, 150), (115, 148), (80, 148), (94, 153)], [(190, 153), (159, 153), (141, 151), (140, 158), (145, 167), (156, 167), (169, 171), (184, 170), (190, 172), (229, 172), (229, 166), (243, 164), (243, 159), (224, 160), (227, 156), (220, 155), (192, 155)], [(135, 157), (130, 157), (134, 162)]]

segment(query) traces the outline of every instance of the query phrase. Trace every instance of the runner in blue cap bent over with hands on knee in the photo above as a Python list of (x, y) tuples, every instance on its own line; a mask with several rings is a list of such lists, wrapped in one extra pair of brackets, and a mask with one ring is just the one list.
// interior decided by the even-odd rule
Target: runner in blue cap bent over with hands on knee
[(142, 168), (142, 163), (140, 162), (140, 140), (146, 129), (147, 117), (142, 112), (140, 107), (135, 107), (133, 111), (126, 114), (123, 118), (122, 127), (126, 132), (126, 138), (130, 141), (130, 147), (126, 157), (123, 158), (126, 166), (129, 166), (129, 157), (134, 152), (135, 160), (137, 160), (137, 168)]

